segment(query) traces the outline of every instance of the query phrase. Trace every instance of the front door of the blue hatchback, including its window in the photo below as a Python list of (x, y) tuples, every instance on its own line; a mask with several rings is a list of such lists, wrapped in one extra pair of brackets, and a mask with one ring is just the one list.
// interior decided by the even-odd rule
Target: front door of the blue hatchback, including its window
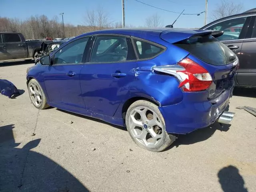
[(51, 55), (52, 65), (44, 75), (44, 84), (52, 106), (79, 112), (84, 110), (81, 96), (80, 71), (86, 57), (89, 37), (76, 39)]

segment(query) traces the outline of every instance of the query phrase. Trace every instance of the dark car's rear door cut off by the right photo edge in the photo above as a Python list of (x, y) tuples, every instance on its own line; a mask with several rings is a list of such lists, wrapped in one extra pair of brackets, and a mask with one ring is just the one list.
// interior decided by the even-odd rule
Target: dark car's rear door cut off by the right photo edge
[(252, 16), (240, 51), (237, 81), (240, 85), (256, 86), (256, 16)]

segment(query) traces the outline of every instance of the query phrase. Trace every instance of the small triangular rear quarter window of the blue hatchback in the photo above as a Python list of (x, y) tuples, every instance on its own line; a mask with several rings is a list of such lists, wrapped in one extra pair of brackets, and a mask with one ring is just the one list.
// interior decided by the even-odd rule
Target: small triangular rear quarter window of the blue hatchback
[(164, 49), (159, 46), (137, 39), (134, 39), (134, 44), (139, 59), (152, 58), (164, 51)]

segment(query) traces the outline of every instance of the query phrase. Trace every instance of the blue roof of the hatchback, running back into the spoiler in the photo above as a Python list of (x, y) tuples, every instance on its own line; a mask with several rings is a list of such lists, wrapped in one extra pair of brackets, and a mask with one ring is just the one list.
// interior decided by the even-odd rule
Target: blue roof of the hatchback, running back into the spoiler
[(126, 35), (134, 36), (137, 38), (146, 39), (153, 42), (163, 41), (160, 38), (161, 34), (170, 34), (170, 38), (176, 38), (176, 34), (179, 34), (180, 39), (192, 36), (193, 34), (200, 33), (202, 30), (195, 29), (184, 29), (184, 28), (117, 28), (117, 29), (106, 29), (93, 31), (89, 33), (82, 34), (73, 38), (73, 40), (84, 37), (84, 36), (93, 36), (93, 35), (102, 35), (102, 34), (116, 34), (116, 35)]

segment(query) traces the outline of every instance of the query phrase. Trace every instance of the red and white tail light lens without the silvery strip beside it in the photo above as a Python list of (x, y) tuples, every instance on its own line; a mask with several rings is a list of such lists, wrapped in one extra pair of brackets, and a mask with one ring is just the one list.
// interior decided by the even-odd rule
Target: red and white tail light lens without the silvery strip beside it
[(180, 76), (186, 76), (179, 85), (183, 91), (202, 91), (212, 84), (212, 77), (208, 71), (190, 58), (181, 60), (178, 65), (184, 67), (184, 70), (177, 71), (177, 73)]

